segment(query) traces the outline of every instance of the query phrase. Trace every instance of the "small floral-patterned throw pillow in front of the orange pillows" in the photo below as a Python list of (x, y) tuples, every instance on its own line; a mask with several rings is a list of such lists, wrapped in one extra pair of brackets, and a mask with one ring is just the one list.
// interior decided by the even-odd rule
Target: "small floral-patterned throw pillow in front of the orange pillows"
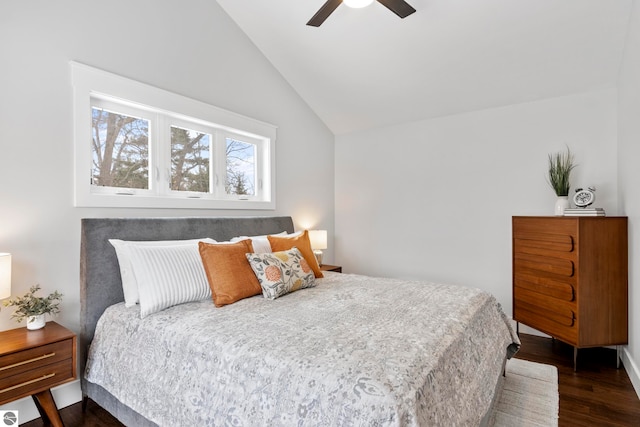
[(313, 270), (298, 248), (288, 251), (247, 254), (247, 259), (260, 286), (262, 295), (276, 299), (298, 289), (316, 285)]

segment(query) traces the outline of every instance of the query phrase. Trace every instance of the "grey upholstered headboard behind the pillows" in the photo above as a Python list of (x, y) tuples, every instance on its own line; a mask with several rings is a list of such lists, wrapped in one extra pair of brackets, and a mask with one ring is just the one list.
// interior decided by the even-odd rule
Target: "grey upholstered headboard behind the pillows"
[(292, 233), (291, 217), (84, 218), (80, 243), (80, 368), (96, 323), (110, 305), (124, 301), (120, 267), (109, 239), (181, 240)]

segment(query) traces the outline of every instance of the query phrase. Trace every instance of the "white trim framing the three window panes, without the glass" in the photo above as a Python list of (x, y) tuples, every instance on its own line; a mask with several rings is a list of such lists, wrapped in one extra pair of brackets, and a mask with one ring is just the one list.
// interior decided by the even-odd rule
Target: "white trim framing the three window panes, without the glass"
[[(74, 205), (76, 207), (114, 208), (181, 208), (181, 209), (275, 209), (275, 141), (277, 127), (182, 95), (168, 92), (145, 83), (130, 80), (75, 61), (70, 62), (74, 100)], [(106, 97), (163, 110), (180, 120), (181, 116), (193, 122), (215, 124), (223, 132), (246, 136), (261, 144), (262, 164), (258, 175), (262, 198), (192, 198), (189, 194), (178, 197), (171, 194), (101, 194), (91, 186), (91, 97)], [(125, 101), (126, 100), (126, 101)], [(149, 171), (151, 174), (152, 171)], [(155, 173), (155, 172), (153, 172)], [(220, 178), (222, 179), (222, 178)]]

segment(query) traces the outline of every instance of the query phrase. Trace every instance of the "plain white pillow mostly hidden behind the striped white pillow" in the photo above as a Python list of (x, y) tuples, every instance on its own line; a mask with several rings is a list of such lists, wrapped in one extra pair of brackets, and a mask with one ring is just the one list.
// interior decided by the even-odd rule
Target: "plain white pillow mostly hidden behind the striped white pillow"
[(175, 246), (193, 244), (198, 248), (198, 242), (216, 243), (213, 239), (192, 239), (192, 240), (156, 240), (156, 241), (128, 241), (109, 239), (109, 243), (116, 250), (118, 264), (120, 264), (120, 278), (122, 279), (122, 292), (124, 293), (124, 305), (133, 307), (140, 302), (138, 294), (138, 284), (131, 268), (131, 255), (129, 248), (132, 246)]

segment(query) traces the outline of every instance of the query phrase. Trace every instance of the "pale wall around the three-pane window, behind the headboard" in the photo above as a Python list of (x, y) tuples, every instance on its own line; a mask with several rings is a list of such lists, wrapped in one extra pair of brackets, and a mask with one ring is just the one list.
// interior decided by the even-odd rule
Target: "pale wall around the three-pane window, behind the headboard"
[[(0, 251), (13, 295), (64, 294), (65, 326), (79, 330), (82, 217), (292, 215), (333, 235), (333, 134), (215, 1), (3, 1), (0, 58)], [(277, 209), (74, 208), (69, 60), (277, 125)]]

